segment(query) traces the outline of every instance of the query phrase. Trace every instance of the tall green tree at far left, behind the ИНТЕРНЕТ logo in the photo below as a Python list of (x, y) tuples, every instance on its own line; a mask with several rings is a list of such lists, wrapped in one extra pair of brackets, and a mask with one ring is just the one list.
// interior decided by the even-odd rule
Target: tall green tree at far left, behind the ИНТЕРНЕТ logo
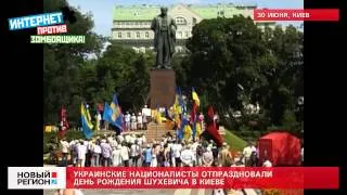
[[(43, 3), (44, 12), (56, 12), (68, 5), (64, 0), (44, 0)], [(67, 22), (67, 34), (86, 35), (86, 44), (43, 46), (44, 123), (59, 122), (59, 109), (62, 105), (67, 107), (69, 120), (78, 121), (80, 101), (87, 96), (81, 88), (85, 82), (82, 69), (88, 65), (86, 58), (92, 53), (99, 54), (104, 40), (92, 32), (93, 22), (90, 14), (81, 14), (76, 9), (74, 11), (77, 22)]]

